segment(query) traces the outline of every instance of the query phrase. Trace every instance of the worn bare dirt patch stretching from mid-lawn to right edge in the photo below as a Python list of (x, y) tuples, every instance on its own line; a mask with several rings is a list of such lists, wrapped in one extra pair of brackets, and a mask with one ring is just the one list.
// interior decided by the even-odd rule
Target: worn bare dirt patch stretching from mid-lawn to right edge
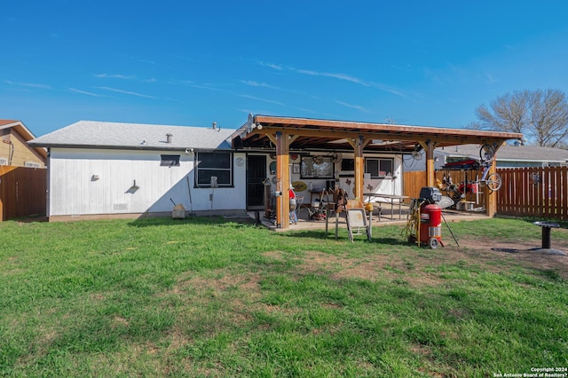
[[(461, 239), (459, 247), (454, 240), (445, 240), (446, 247), (418, 248), (415, 254), (376, 254), (364, 258), (335, 256), (319, 251), (306, 251), (298, 272), (327, 274), (333, 280), (405, 280), (412, 287), (438, 286), (446, 282), (440, 277), (443, 265), (473, 266), (479, 271), (504, 272), (518, 265), (541, 272), (553, 272), (568, 279), (568, 256), (555, 256), (531, 250), (540, 246), (540, 240), (500, 242), (499, 240)], [(558, 244), (558, 243), (556, 243)], [(568, 251), (568, 245), (558, 244)], [(275, 261), (283, 260), (280, 252), (272, 251)]]

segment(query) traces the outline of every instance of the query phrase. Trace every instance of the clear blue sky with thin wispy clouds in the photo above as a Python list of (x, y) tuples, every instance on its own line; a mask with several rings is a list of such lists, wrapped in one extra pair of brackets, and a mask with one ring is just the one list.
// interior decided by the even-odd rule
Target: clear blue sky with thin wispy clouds
[(236, 129), (247, 114), (466, 128), (568, 91), (568, 2), (7, 1), (0, 118)]

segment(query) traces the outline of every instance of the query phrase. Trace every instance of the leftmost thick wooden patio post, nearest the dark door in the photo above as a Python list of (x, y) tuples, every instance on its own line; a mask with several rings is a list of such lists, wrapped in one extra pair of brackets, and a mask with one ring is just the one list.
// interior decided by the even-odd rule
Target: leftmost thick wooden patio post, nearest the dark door
[(277, 131), (275, 137), (276, 145), (276, 192), (280, 196), (276, 197), (276, 226), (287, 229), (290, 222), (290, 139), (288, 134)]

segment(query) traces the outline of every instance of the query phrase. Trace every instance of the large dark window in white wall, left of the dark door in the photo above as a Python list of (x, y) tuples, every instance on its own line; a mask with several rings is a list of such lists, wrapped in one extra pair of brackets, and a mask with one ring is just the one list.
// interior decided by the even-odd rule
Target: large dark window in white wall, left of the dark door
[(219, 187), (233, 186), (233, 154), (198, 153), (197, 161), (197, 186), (210, 187), (211, 177), (217, 177)]

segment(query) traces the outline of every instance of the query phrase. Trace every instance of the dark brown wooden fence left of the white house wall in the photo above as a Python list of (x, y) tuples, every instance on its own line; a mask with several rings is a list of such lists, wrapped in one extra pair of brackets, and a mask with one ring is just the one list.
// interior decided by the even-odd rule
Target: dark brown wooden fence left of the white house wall
[(0, 222), (45, 214), (47, 170), (0, 166)]

